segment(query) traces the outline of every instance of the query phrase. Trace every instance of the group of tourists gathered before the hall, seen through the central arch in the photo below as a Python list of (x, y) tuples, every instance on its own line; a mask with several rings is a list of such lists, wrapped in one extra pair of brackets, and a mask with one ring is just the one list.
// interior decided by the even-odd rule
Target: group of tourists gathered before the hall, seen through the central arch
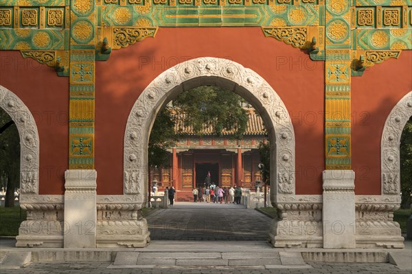
[(240, 204), (240, 197), (242, 197), (242, 189), (238, 186), (233, 188), (227, 188), (224, 186), (220, 188), (214, 183), (211, 183), (210, 186), (193, 188), (193, 201), (206, 203), (237, 203)]

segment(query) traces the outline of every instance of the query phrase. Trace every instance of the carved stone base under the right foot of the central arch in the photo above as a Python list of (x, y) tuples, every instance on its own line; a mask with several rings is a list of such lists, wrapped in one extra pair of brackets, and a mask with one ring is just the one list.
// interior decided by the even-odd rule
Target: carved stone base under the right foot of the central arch
[[(274, 247), (322, 247), (322, 203), (320, 195), (276, 197), (277, 218), (269, 238)], [(282, 201), (285, 200), (285, 201)]]

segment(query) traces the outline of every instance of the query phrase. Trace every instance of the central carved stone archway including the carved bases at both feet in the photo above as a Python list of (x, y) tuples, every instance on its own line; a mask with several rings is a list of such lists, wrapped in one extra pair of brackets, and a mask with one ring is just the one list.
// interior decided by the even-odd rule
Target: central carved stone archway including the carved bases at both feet
[[(269, 233), (272, 242), (276, 242), (277, 247), (321, 247), (321, 195), (295, 195), (295, 133), (284, 103), (258, 73), (220, 58), (196, 58), (173, 66), (154, 79), (133, 105), (124, 135), (122, 201), (128, 199), (137, 219), (128, 219), (130, 225), (117, 228), (125, 231), (132, 231), (133, 227), (139, 229), (134, 229), (137, 234), (132, 238), (128, 236), (127, 240), (119, 236), (109, 236), (103, 240), (100, 236), (103, 230), (98, 225), (98, 247), (141, 247), (150, 239), (146, 220), (140, 216), (139, 209), (147, 199), (148, 140), (152, 125), (157, 112), (168, 101), (185, 90), (203, 85), (221, 86), (247, 99), (260, 113), (268, 129), (272, 144), (271, 201), (279, 209), (279, 219), (273, 222)], [(314, 232), (310, 235), (302, 233), (299, 237), (290, 233), (287, 227), (301, 221), (314, 227)]]

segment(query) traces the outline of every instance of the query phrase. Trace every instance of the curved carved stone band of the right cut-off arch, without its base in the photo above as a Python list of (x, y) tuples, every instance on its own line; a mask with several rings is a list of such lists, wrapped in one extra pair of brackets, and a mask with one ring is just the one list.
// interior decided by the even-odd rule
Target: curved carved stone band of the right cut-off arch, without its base
[(383, 127), (380, 142), (382, 195), (400, 195), (400, 137), (412, 116), (412, 91), (391, 110)]

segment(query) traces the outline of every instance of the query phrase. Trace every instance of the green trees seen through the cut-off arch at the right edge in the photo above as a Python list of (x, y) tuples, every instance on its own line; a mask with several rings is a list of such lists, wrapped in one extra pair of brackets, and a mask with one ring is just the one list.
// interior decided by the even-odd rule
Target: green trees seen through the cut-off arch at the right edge
[(409, 118), (400, 137), (400, 191), (402, 208), (412, 204), (412, 117)]

